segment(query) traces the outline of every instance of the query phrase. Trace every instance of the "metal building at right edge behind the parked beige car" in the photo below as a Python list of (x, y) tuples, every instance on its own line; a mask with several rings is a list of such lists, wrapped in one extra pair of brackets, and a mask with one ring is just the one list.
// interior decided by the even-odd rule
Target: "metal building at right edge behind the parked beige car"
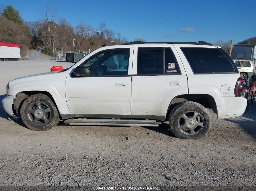
[(244, 59), (254, 61), (256, 58), (256, 45), (235, 44), (232, 59)]

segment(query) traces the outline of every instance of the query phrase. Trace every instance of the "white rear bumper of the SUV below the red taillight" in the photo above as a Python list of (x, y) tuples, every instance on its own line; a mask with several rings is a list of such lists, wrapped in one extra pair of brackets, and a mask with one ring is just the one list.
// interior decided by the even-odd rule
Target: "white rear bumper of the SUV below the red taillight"
[(218, 119), (241, 116), (247, 106), (247, 99), (244, 97), (214, 97), (214, 100), (218, 110)]

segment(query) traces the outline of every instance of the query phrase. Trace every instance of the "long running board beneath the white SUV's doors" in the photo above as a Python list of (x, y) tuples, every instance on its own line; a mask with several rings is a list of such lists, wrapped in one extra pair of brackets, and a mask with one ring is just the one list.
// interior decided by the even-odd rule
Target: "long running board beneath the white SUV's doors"
[(161, 122), (136, 119), (67, 119), (65, 125), (102, 125), (102, 126), (151, 126), (158, 127)]

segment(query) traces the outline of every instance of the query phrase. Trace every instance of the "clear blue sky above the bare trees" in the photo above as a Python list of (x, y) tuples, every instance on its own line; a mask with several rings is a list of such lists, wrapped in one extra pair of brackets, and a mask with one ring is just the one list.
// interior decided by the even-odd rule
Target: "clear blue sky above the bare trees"
[(73, 27), (82, 19), (94, 28), (105, 22), (129, 41), (233, 40), (236, 44), (256, 36), (255, 0), (0, 0), (0, 4), (12, 5), (25, 21), (41, 19), (49, 6)]

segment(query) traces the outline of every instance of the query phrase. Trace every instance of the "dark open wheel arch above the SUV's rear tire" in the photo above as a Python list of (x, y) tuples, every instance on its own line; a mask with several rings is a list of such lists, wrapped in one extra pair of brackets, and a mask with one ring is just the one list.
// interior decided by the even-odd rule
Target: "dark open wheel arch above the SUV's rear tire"
[(166, 119), (168, 119), (169, 114), (171, 113), (171, 110), (178, 105), (179, 103), (185, 102), (185, 101), (194, 101), (197, 103), (200, 103), (206, 108), (212, 108), (213, 112), (218, 114), (217, 105), (215, 103), (214, 98), (209, 94), (183, 94), (178, 95), (174, 97), (168, 107), (167, 113), (166, 113)]

